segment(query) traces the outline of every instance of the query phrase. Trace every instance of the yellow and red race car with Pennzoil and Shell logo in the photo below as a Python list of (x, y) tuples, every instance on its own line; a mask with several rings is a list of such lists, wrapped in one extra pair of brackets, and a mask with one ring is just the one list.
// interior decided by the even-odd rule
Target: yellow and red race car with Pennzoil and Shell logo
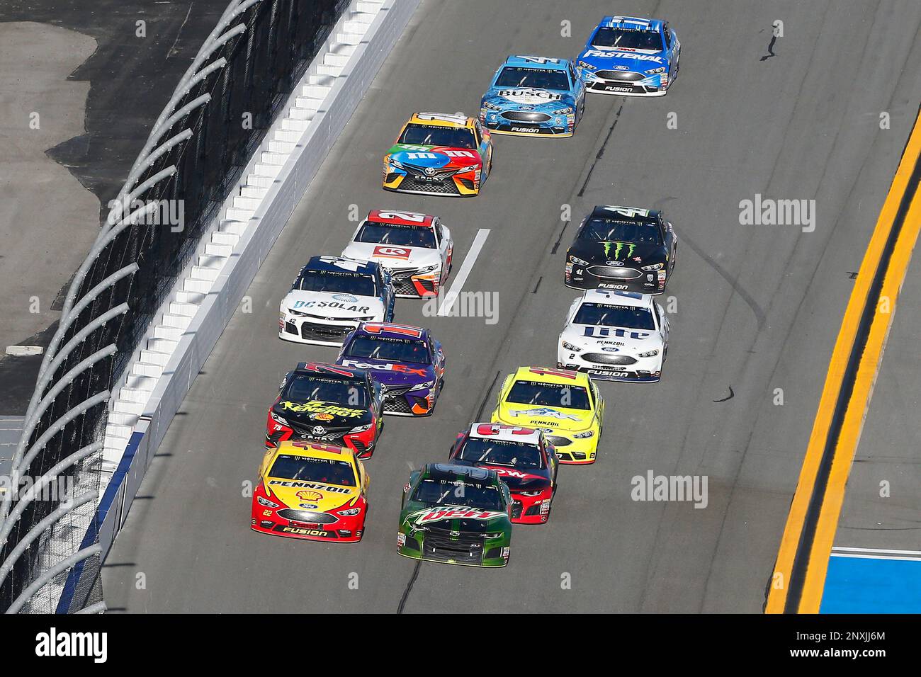
[(252, 530), (357, 543), (367, 514), (365, 466), (351, 449), (282, 442), (265, 452), (252, 495)]

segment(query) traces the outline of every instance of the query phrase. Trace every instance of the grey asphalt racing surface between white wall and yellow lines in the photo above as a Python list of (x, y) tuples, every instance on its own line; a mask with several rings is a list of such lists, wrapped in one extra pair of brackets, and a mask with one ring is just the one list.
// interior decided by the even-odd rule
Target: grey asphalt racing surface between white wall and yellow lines
[[(667, 97), (591, 96), (568, 140), (496, 137), (479, 197), (384, 193), (380, 157), (410, 112), (475, 111), (507, 53), (574, 56), (608, 12), (597, 1), (514, 6), (496, 15), (494, 2), (426, 0), (417, 10), (263, 263), (252, 312), (234, 316), (170, 427), (104, 570), (112, 611), (762, 610), (849, 273), (914, 121), (921, 6), (638, 2), (631, 12), (668, 18), (682, 41)], [(769, 48), (775, 19), (785, 34)], [(573, 37), (560, 35), (563, 20)], [(740, 200), (756, 193), (815, 199), (815, 230), (740, 225)], [(681, 238), (664, 378), (602, 385), (599, 460), (561, 469), (549, 523), (516, 526), (505, 569), (399, 557), (410, 468), (444, 460), (454, 434), (489, 415), (497, 375), (554, 364), (577, 296), (562, 283), (575, 229), (562, 205), (577, 223), (612, 203), (665, 209)], [(310, 255), (342, 250), (352, 204), (442, 216), (458, 263), (489, 228), (465, 289), (497, 292), (498, 321), (424, 317), (421, 303), (399, 300), (397, 321), (429, 326), (444, 344), (447, 381), (432, 418), (387, 419), (367, 462), (364, 540), (263, 536), (249, 530), (242, 485), (262, 456), (266, 407), (298, 360), (335, 355), (279, 341), (278, 301)], [(706, 508), (633, 501), (631, 478), (650, 470), (706, 475)]]

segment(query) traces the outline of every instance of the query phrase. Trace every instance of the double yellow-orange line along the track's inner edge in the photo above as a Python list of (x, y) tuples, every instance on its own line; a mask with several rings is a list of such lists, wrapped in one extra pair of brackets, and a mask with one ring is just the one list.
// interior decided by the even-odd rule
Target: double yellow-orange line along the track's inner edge
[[(880, 270), (880, 262), (887, 252), (887, 240), (891, 238), (892, 228), (896, 226), (900, 206), (904, 201), (906, 191), (914, 185), (913, 175), (915, 175), (919, 156), (921, 156), (921, 118), (916, 118), (902, 160), (892, 179), (886, 201), (882, 205), (876, 228), (870, 237), (863, 262), (860, 264), (857, 282), (851, 291), (851, 297), (845, 309), (845, 317), (841, 322), (841, 329), (834, 344), (828, 374), (822, 388), (822, 398), (819, 401), (819, 409), (812, 425), (806, 456), (799, 473), (799, 483), (790, 504), (787, 526), (781, 538), (774, 575), (769, 584), (765, 613), (819, 612), (825, 574), (828, 569), (828, 558), (832, 552), (834, 532), (837, 529), (841, 506), (844, 502), (847, 476), (854, 461), (854, 453), (866, 419), (873, 384), (879, 372), (880, 359), (892, 325), (896, 298), (902, 288), (905, 272), (918, 238), (918, 230), (921, 228), (921, 191), (917, 191), (904, 215), (903, 226), (894, 249), (891, 250), (889, 264), (885, 271)], [(859, 336), (861, 320), (865, 317), (871, 288), (878, 274), (885, 275), (879, 294), (880, 302), (873, 313), (869, 333)], [(842, 388), (845, 386), (848, 365), (855, 359), (854, 351), (860, 349), (860, 345), (855, 344), (857, 340), (864, 342), (863, 352), (859, 356), (857, 375), (846, 403), (843, 422), (838, 431), (834, 456), (831, 459), (831, 470), (827, 473), (827, 481), (820, 485), (817, 480), (821, 479), (822, 461), (828, 462), (828, 459), (825, 458), (826, 448), (829, 436), (834, 433), (835, 407), (842, 395)], [(822, 495), (814, 497), (817, 489), (822, 491)], [(821, 500), (821, 508), (818, 519), (815, 519), (814, 531), (810, 539), (811, 525), (807, 522), (810, 517), (810, 503), (814, 505), (816, 500)], [(799, 571), (799, 568), (795, 570), (794, 566), (798, 555), (801, 559), (807, 554), (805, 550), (800, 553), (800, 548), (808, 549), (805, 575)], [(794, 583), (793, 578), (798, 575), (803, 577), (801, 581), (797, 581), (801, 590), (799, 603), (795, 600), (787, 600), (791, 583)]]

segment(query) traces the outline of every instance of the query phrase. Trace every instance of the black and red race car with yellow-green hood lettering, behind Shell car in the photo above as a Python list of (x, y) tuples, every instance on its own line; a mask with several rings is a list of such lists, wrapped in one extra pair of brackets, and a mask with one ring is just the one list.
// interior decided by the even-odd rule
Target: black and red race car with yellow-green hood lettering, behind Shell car
[(312, 440), (369, 459), (384, 426), (381, 414), (383, 391), (370, 371), (301, 362), (286, 374), (269, 408), (265, 447)]

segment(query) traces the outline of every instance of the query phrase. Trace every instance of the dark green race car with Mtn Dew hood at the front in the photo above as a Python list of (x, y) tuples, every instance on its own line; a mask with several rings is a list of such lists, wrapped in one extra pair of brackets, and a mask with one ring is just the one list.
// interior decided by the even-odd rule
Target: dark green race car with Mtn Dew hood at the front
[(512, 499), (495, 471), (428, 463), (403, 486), (397, 553), (467, 566), (506, 566)]

